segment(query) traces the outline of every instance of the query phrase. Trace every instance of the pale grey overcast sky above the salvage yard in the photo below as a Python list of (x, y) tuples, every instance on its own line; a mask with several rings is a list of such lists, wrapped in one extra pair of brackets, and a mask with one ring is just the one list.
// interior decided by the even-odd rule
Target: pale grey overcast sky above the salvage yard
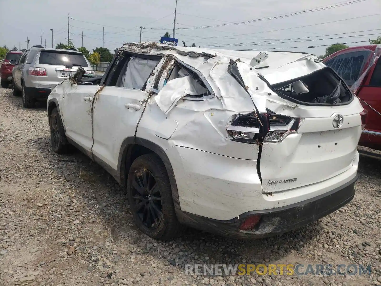
[[(248, 24), (186, 29), (268, 18), (346, 2), (349, 0), (178, 0), (175, 38), (179, 39), (179, 45), (184, 41), (186, 45), (195, 42), (197, 46), (210, 48), (306, 51), (322, 55), (326, 47), (305, 47), (366, 41), (381, 36), (381, 0), (363, 0), (323, 11)], [(53, 42), (67, 42), (68, 13), (72, 18), (70, 39), (73, 39), (75, 47), (81, 47), (82, 31), (84, 47), (89, 50), (102, 47), (103, 26), (104, 47), (110, 50), (120, 47), (123, 42), (139, 42), (140, 29), (137, 26), (145, 28), (142, 29), (142, 41), (158, 41), (166, 31), (172, 35), (174, 8), (175, 0), (130, 3), (117, 0), (0, 0), (0, 45), (26, 48), (27, 37), (30, 47), (40, 44), (43, 30), (43, 45), (46, 39), (46, 46), (51, 47), (50, 29), (54, 29)], [(373, 14), (378, 15), (369, 16)], [(347, 20), (337, 21), (343, 19)], [(330, 21), (336, 22), (322, 24)], [(378, 30), (368, 31), (375, 29)], [(354, 35), (362, 36), (347, 37)], [(305, 41), (321, 38), (335, 39)], [(347, 45), (365, 44), (367, 42)]]

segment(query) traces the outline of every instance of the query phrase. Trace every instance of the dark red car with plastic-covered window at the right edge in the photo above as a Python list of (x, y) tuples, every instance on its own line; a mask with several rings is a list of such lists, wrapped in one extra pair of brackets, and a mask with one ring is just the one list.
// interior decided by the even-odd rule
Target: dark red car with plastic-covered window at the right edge
[(368, 112), (359, 145), (381, 150), (381, 45), (346, 48), (323, 59), (360, 98)]

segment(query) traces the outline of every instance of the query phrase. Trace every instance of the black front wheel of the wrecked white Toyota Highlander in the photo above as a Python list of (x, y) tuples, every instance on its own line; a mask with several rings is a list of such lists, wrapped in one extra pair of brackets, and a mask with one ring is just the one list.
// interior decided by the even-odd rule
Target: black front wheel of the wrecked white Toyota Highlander
[(64, 154), (68, 151), (65, 130), (57, 108), (51, 111), (49, 117), (51, 148), (55, 153)]

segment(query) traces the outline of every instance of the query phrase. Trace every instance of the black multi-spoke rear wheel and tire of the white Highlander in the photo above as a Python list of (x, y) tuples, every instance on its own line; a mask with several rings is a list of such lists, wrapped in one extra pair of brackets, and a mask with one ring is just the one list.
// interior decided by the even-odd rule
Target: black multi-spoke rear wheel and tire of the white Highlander
[(134, 221), (146, 235), (166, 240), (181, 234), (169, 177), (156, 154), (144, 154), (131, 164), (127, 196)]

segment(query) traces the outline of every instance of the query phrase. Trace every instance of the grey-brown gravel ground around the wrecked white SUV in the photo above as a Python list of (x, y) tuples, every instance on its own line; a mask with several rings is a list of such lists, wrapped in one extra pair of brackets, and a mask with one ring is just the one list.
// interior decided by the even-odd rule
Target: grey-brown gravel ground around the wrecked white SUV
[[(45, 103), (21, 107), (0, 89), (1, 285), (381, 284), (381, 167), (361, 157), (342, 209), (282, 236), (253, 241), (187, 230), (169, 242), (133, 224), (125, 191), (79, 152), (50, 148)], [(192, 276), (185, 264), (363, 264), (371, 275)]]

